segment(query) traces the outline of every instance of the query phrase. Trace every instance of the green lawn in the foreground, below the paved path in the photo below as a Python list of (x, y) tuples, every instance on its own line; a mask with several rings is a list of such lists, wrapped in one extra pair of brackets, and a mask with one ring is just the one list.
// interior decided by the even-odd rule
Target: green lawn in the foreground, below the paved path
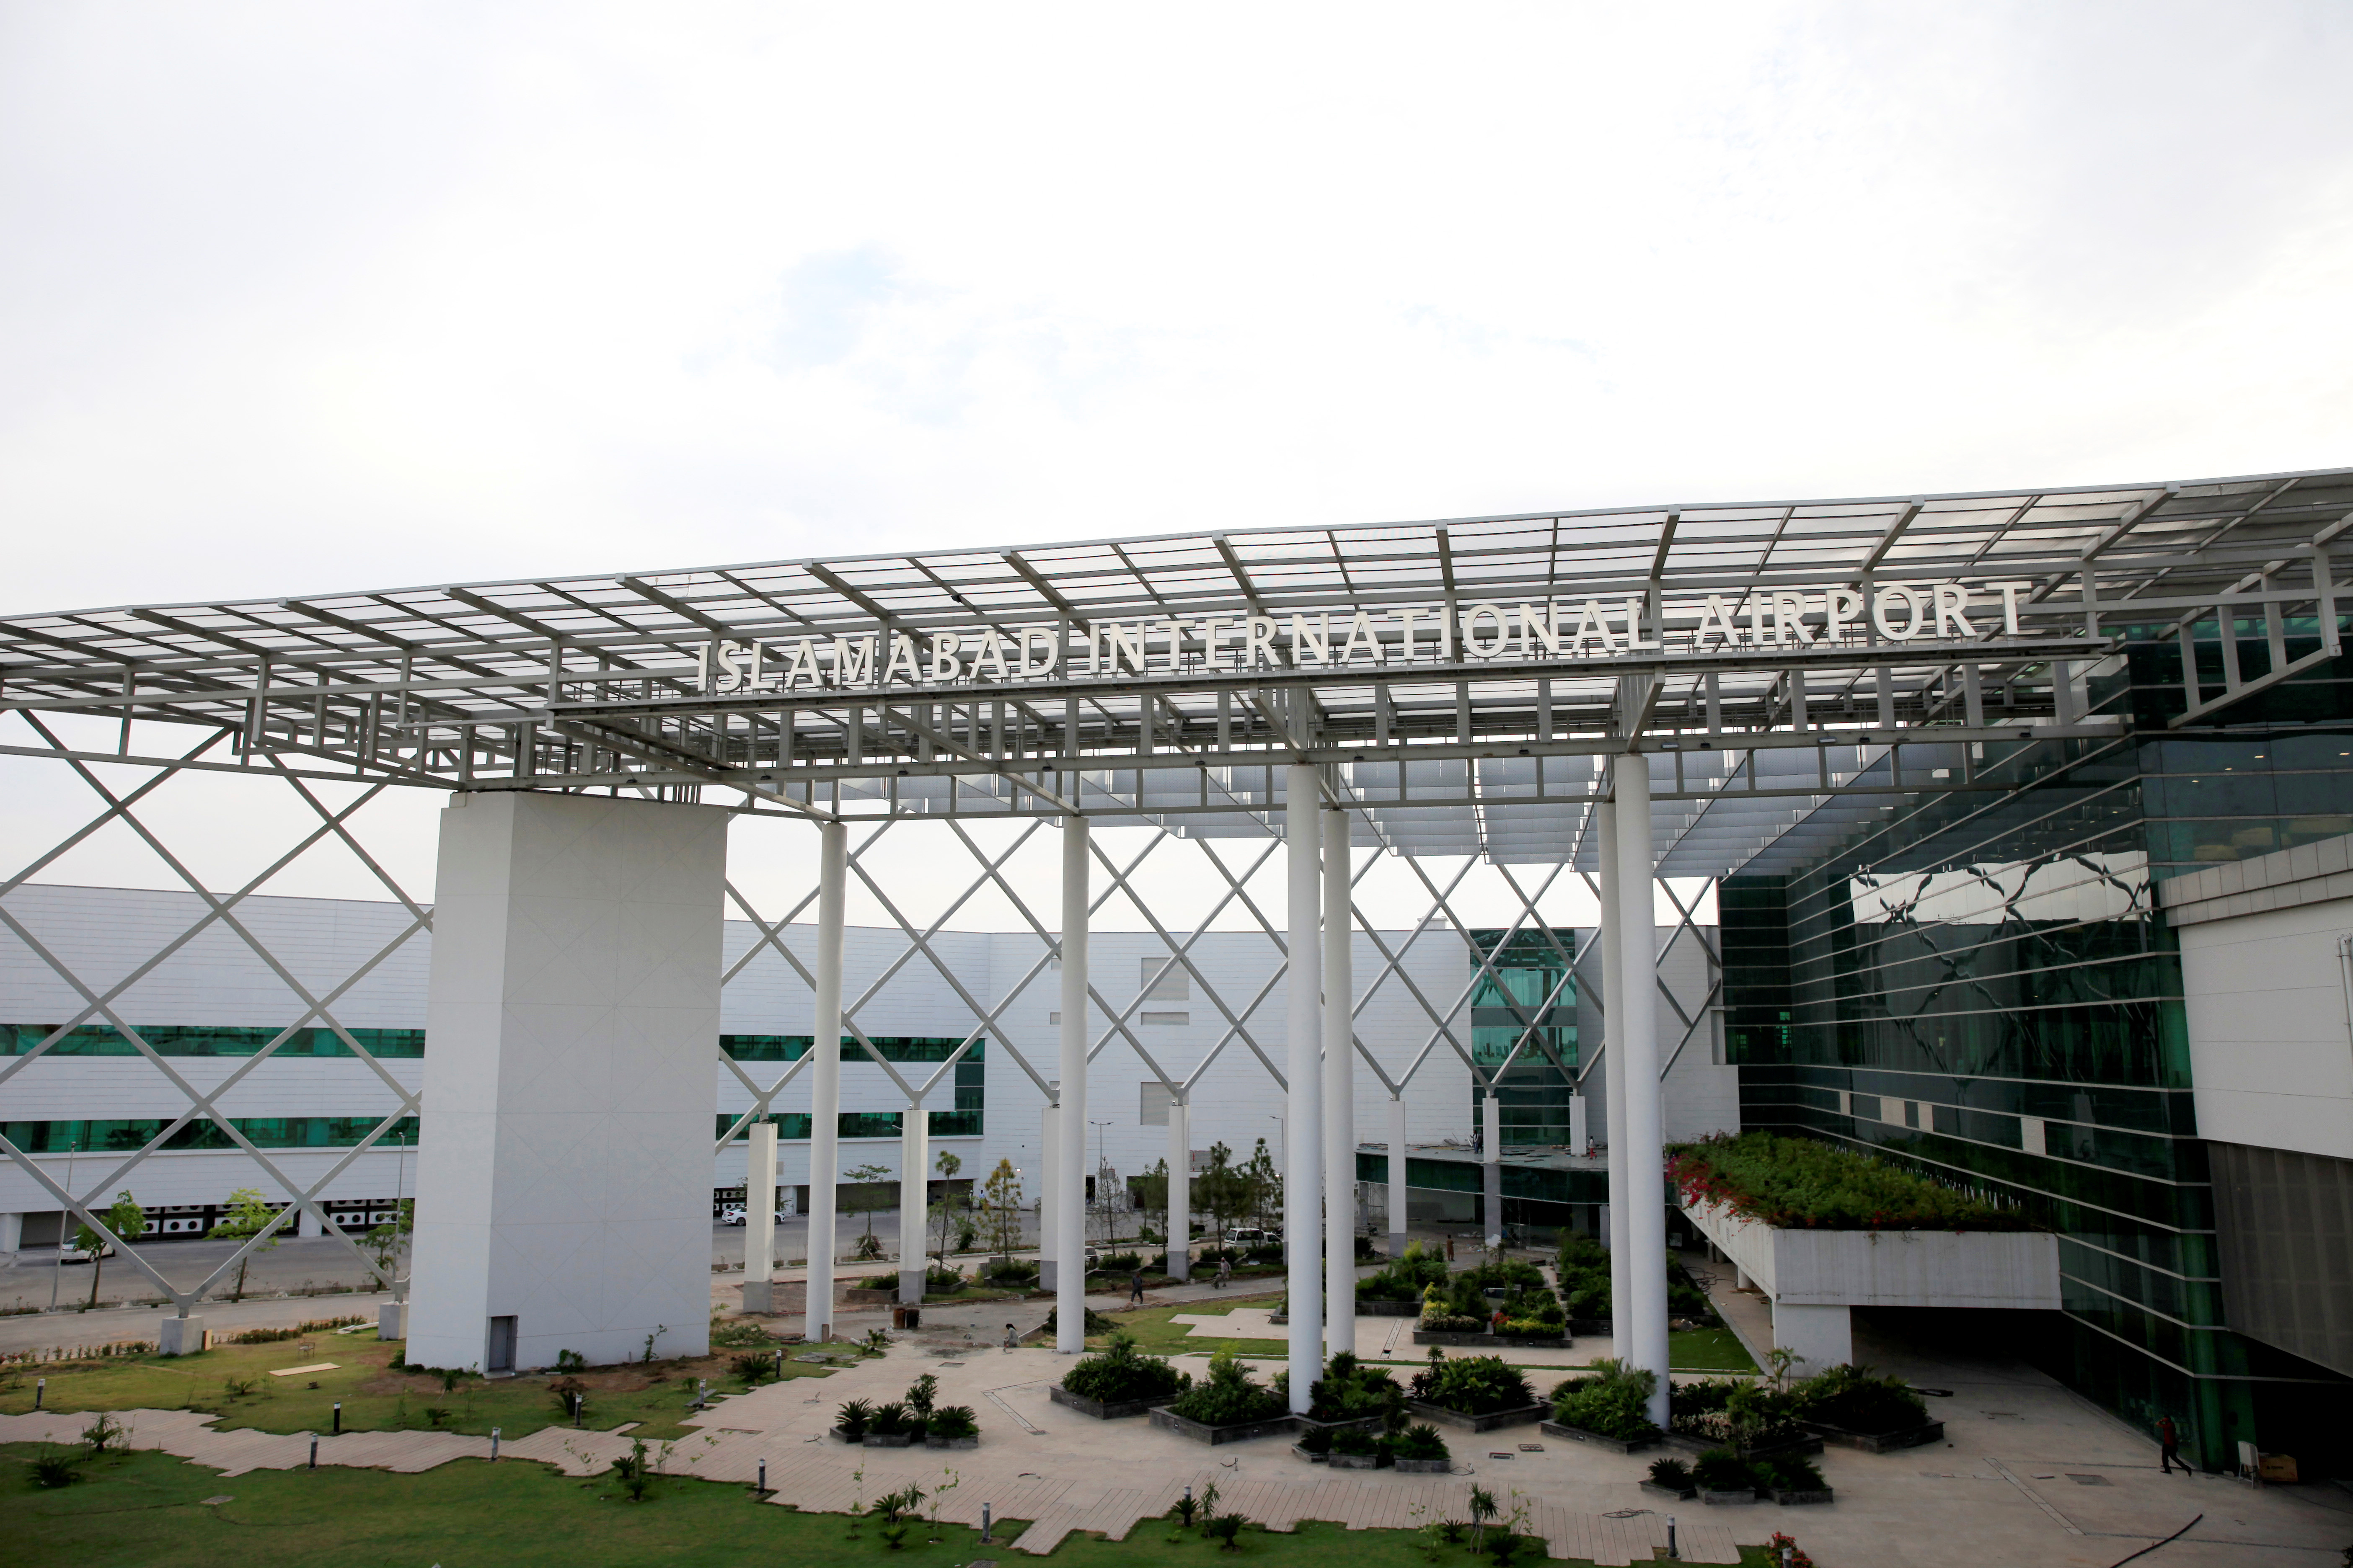
[[(647, 1502), (628, 1502), (609, 1476), (572, 1481), (513, 1460), (456, 1460), (416, 1476), (325, 1467), (224, 1479), (186, 1460), (132, 1453), (85, 1465), (78, 1486), (45, 1490), (31, 1481), (35, 1453), (31, 1443), (0, 1446), (7, 1561), (21, 1568), (249, 1568), (261, 1556), (271, 1568), (816, 1568), (859, 1559), (962, 1568), (976, 1556), (1012, 1561), (1009, 1552), (981, 1547), (976, 1530), (929, 1523), (915, 1523), (894, 1552), (882, 1542), (880, 1521), (765, 1507), (748, 1488), (713, 1481), (666, 1479)], [(207, 1502), (212, 1497), (226, 1500)], [(1019, 1526), (1000, 1526), (998, 1540), (1009, 1533)], [(1200, 1530), (1139, 1523), (1125, 1542), (1064, 1540), (1052, 1561), (1089, 1568), (1235, 1561), (1471, 1568), (1492, 1559), (1473, 1559), (1464, 1544), (1438, 1547), (1433, 1556), (1409, 1530), (1315, 1523), (1282, 1535), (1247, 1528), (1240, 1552), (1224, 1554)], [(1518, 1561), (1548, 1559), (1522, 1552)], [(1767, 1568), (1755, 1547), (1741, 1561)]]

